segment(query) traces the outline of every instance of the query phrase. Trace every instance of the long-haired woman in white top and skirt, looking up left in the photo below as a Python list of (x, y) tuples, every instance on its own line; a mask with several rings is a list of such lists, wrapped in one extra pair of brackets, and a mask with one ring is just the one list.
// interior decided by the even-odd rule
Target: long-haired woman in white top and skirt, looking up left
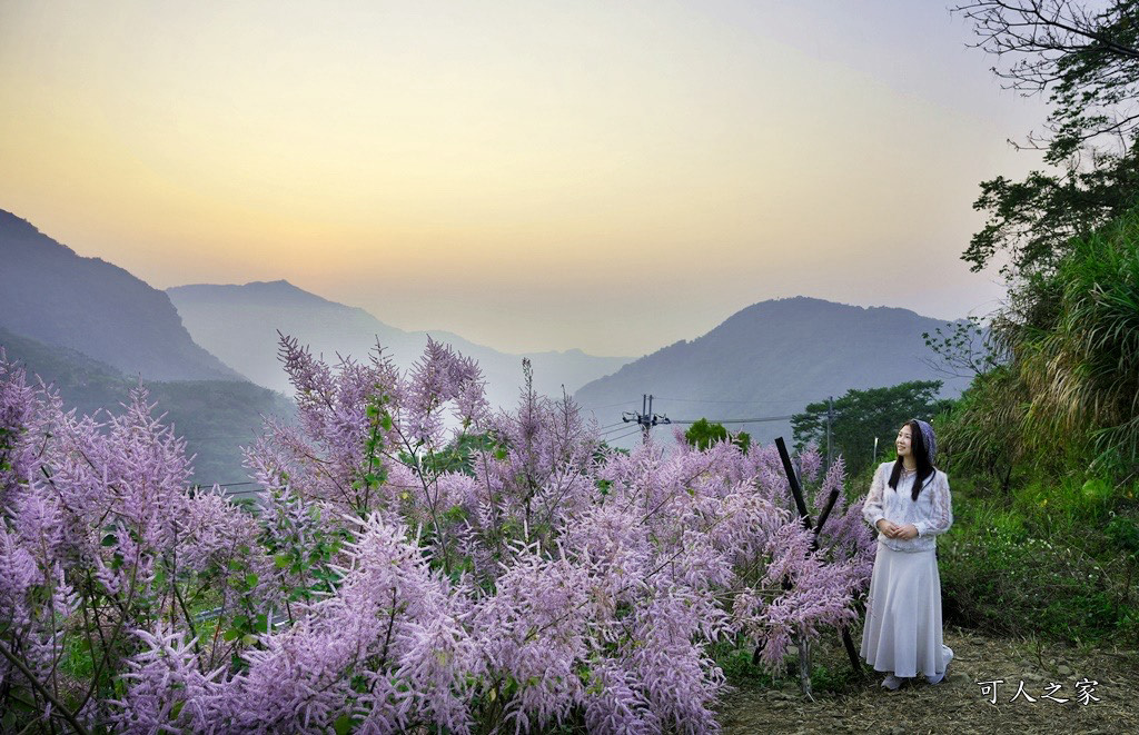
[(945, 677), (953, 651), (942, 642), (936, 536), (953, 523), (949, 478), (934, 468), (933, 427), (913, 419), (898, 432), (898, 460), (878, 466), (862, 506), (878, 548), (862, 628), (862, 658), (896, 689), (920, 671)]

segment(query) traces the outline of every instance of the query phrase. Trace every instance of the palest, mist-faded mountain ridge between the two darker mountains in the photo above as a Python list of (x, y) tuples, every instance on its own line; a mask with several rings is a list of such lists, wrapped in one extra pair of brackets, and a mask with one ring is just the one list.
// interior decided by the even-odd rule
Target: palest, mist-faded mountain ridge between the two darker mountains
[(514, 406), (523, 382), (522, 358), (534, 366), (539, 393), (572, 394), (617, 370), (629, 357), (598, 357), (580, 349), (511, 355), (446, 331), (409, 332), (385, 324), (362, 308), (305, 291), (288, 281), (245, 284), (198, 283), (166, 289), (194, 339), (254, 382), (292, 395), (277, 360), (277, 331), (295, 337), (314, 354), (367, 360), (378, 340), (398, 366), (408, 369), (423, 354), (427, 336), (478, 361), (492, 405)]

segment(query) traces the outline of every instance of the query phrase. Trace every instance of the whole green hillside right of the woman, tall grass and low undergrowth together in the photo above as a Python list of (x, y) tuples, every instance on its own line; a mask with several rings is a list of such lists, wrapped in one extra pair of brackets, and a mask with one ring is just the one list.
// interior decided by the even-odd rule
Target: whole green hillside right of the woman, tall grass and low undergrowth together
[(937, 421), (947, 616), (1139, 642), (1139, 210), (1027, 279), (994, 338), (1001, 364)]

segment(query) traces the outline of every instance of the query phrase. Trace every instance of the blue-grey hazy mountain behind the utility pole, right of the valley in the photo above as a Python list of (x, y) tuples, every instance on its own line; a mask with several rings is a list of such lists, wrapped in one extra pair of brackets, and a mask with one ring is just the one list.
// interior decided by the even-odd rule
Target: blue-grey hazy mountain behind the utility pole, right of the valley
[[(655, 413), (670, 419), (767, 418), (801, 412), (808, 403), (847, 390), (942, 380), (943, 396), (968, 385), (926, 363), (923, 332), (943, 320), (904, 308), (861, 307), (798, 296), (753, 304), (690, 341), (682, 340), (580, 388), (575, 398), (598, 407), (603, 424), (640, 410), (654, 394)], [(616, 405), (614, 405), (616, 404)], [(685, 427), (680, 427), (685, 428)], [(753, 438), (790, 437), (789, 422), (734, 424)], [(655, 429), (663, 437), (669, 428)]]

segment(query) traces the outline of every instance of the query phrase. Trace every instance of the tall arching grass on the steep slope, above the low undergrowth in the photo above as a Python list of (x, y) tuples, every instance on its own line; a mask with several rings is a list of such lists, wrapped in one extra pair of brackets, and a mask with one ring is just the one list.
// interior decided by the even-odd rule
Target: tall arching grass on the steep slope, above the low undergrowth
[(947, 461), (1006, 492), (1021, 463), (1139, 477), (1139, 209), (1026, 275), (992, 330), (1007, 360), (943, 419)]

